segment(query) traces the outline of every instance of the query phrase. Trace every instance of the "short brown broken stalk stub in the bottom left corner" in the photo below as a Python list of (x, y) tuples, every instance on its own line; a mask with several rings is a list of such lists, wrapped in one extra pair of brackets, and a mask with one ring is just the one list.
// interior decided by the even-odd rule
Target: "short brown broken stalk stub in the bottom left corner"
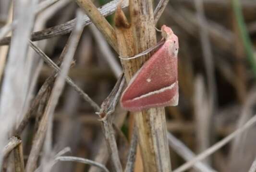
[(15, 164), (15, 172), (25, 171), (22, 142), (18, 144), (14, 149), (14, 164)]

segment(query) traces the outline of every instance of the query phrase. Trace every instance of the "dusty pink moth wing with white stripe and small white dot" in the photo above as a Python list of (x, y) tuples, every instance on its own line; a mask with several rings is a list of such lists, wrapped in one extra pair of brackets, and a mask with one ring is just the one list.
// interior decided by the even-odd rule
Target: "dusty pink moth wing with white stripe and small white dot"
[(179, 47), (175, 38), (167, 40), (131, 79), (121, 97), (123, 108), (138, 111), (178, 104)]

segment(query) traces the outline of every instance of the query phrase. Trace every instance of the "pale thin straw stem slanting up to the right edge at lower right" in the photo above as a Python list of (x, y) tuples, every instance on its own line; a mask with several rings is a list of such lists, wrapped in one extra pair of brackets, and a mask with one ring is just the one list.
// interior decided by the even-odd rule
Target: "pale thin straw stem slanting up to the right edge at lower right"
[(207, 156), (211, 155), (214, 153), (216, 150), (219, 150), (221, 147), (223, 147), (225, 144), (227, 144), (230, 140), (234, 139), (236, 136), (240, 135), (242, 132), (244, 132), (246, 129), (250, 128), (252, 125), (256, 123), (256, 115), (249, 119), (244, 126), (236, 129), (234, 132), (232, 132), (230, 135), (225, 137), (224, 139), (220, 140), (219, 142), (215, 143), (212, 145), (210, 148), (207, 150), (203, 151), (199, 155), (197, 155), (194, 159), (191, 161), (186, 162), (179, 168), (175, 169), (173, 172), (184, 172), (185, 170), (189, 169), (192, 167), (197, 161), (201, 161)]

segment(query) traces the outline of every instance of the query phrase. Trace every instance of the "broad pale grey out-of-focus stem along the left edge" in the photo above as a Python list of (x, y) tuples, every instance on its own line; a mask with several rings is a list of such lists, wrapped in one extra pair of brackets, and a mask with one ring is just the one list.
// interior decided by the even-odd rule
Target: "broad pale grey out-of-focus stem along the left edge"
[[(17, 2), (20, 9), (17, 17), (17, 27), (13, 32), (12, 43), (8, 56), (8, 62), (5, 67), (5, 77), (2, 81), (1, 95), (0, 95), (0, 119), (4, 125), (0, 125), (0, 150), (4, 148), (7, 143), (8, 133), (13, 129), (17, 118), (22, 116), (22, 111), (25, 103), (24, 90), (26, 90), (25, 69), (30, 63), (26, 59), (27, 38), (31, 32), (34, 23), (34, 11), (36, 9), (37, 0), (24, 0)], [(20, 34), (23, 33), (23, 34)], [(17, 59), (17, 56), (19, 58)], [(2, 161), (2, 154), (0, 155), (0, 164)], [(0, 165), (1, 167), (1, 165)]]

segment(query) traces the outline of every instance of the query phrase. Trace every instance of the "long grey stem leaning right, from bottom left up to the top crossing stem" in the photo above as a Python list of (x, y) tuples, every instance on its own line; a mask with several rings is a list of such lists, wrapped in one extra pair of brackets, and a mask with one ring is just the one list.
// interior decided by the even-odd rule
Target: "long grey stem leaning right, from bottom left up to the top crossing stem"
[[(70, 68), (71, 62), (73, 61), (73, 55), (75, 52), (75, 47), (77, 43), (77, 35), (80, 35), (83, 31), (83, 26), (81, 23), (82, 14), (78, 15), (80, 20), (77, 20), (76, 27), (74, 29), (73, 37), (70, 40), (69, 47), (67, 48), (67, 54), (64, 57), (63, 64), (59, 73), (59, 76), (57, 77), (55, 84), (52, 88), (51, 95), (49, 97), (47, 106), (45, 108), (45, 112), (43, 114), (43, 117), (40, 121), (36, 137), (33, 140), (33, 147), (30, 151), (30, 155), (28, 157), (27, 165), (26, 165), (26, 171), (27, 172), (33, 172), (36, 169), (36, 162), (38, 159), (39, 151), (41, 149), (41, 146), (43, 144), (43, 140), (45, 138), (46, 130), (49, 126), (49, 119), (52, 118), (53, 112), (57, 106), (59, 97), (61, 95), (64, 81), (66, 78), (66, 75), (68, 74), (68, 70)], [(32, 43), (32, 42), (31, 42)], [(58, 67), (58, 66), (57, 66)], [(48, 128), (51, 130), (51, 128)], [(52, 136), (48, 136), (48, 138), (51, 138)], [(46, 153), (49, 154), (51, 151), (51, 140), (48, 140), (47, 142), (48, 146), (46, 148)], [(44, 169), (43, 169), (44, 170)]]

